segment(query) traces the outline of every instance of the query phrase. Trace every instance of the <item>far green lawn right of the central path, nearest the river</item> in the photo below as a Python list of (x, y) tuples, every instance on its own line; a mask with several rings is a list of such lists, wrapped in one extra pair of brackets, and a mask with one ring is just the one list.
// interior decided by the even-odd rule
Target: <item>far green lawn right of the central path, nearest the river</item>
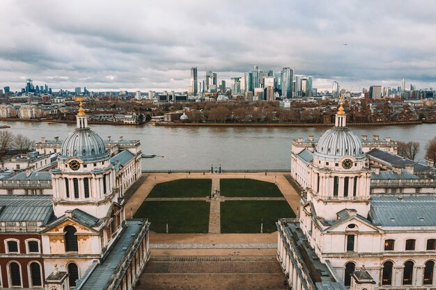
[(220, 179), (221, 195), (238, 198), (282, 198), (277, 185), (256, 179)]

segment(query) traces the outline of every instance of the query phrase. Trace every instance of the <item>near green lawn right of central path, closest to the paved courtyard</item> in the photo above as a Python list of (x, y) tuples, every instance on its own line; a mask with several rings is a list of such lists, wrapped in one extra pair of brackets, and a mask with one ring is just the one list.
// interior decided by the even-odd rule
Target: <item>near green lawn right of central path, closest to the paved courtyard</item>
[[(222, 180), (222, 179), (221, 179)], [(229, 200), (221, 202), (221, 233), (258, 233), (263, 219), (263, 232), (277, 231), (279, 218), (295, 218), (286, 201)]]

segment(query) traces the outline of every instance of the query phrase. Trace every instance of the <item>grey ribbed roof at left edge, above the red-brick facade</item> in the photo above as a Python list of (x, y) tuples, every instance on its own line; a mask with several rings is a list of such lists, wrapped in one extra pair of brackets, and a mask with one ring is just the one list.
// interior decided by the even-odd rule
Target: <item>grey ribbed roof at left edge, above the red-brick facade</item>
[(52, 195), (0, 195), (0, 221), (42, 221), (53, 214)]

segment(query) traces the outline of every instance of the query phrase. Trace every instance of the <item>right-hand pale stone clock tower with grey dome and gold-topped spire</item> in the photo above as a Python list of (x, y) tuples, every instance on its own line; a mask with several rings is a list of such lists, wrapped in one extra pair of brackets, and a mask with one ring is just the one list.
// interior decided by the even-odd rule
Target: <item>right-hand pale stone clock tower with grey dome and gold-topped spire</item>
[(308, 200), (318, 216), (327, 220), (336, 219), (342, 209), (355, 209), (366, 218), (370, 209), (368, 158), (360, 138), (345, 123), (340, 100), (334, 128), (321, 136), (313, 152)]

